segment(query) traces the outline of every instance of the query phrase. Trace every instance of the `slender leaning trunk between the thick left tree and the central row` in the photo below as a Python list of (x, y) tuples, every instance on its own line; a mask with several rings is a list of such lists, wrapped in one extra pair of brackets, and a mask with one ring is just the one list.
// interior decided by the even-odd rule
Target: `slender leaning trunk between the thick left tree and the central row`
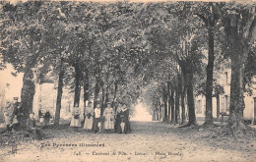
[(64, 78), (64, 70), (63, 70), (63, 60), (60, 60), (60, 72), (59, 72), (59, 80), (58, 80), (58, 91), (57, 91), (57, 102), (56, 102), (56, 111), (55, 111), (55, 119), (54, 126), (59, 125), (60, 119), (60, 109), (61, 109), (61, 98), (62, 98), (62, 88), (63, 88), (63, 78)]

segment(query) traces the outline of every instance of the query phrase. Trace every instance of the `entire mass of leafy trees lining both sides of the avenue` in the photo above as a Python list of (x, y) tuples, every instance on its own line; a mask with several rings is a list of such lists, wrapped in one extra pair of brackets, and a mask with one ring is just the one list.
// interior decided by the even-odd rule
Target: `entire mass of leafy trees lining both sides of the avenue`
[(122, 96), (135, 104), (142, 94), (154, 108), (161, 98), (164, 119), (172, 123), (178, 121), (181, 104), (182, 124), (186, 97), (185, 126), (196, 125), (197, 87), (206, 95), (205, 125), (212, 126), (213, 88), (222, 93), (214, 84), (214, 68), (227, 56), (230, 128), (245, 128), (242, 96), (253, 75), (243, 79), (249, 53), (254, 55), (255, 4), (2, 2), (0, 17), (3, 61), (25, 74), (21, 98), (27, 117), (34, 83), (57, 78), (56, 125), (65, 85), (74, 91), (74, 104), (81, 89), (84, 101), (100, 98), (102, 105)]

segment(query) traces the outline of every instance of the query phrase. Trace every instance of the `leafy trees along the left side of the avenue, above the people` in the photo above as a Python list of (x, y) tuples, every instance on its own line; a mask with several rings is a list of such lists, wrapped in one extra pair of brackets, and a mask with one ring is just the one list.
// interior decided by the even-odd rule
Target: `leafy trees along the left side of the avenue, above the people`
[[(123, 96), (127, 103), (136, 101), (139, 86), (132, 74), (136, 58), (120, 37), (128, 26), (119, 21), (125, 14), (129, 13), (122, 3), (2, 2), (1, 54), (4, 62), (24, 73), (21, 99), (27, 118), (35, 82), (54, 78), (58, 81), (56, 125), (63, 85), (74, 92), (74, 105), (79, 104), (81, 88), (84, 101), (94, 97), (104, 105)], [(136, 47), (131, 42), (129, 48)]]

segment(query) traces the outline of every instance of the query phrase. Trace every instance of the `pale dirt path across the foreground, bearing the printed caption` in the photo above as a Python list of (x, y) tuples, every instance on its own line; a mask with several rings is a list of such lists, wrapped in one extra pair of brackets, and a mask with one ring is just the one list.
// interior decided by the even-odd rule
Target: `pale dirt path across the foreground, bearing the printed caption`
[(23, 141), (17, 154), (6, 154), (11, 148), (1, 149), (5, 155), (0, 161), (251, 162), (256, 159), (255, 140), (236, 143), (228, 138), (213, 138), (211, 132), (188, 131), (156, 122), (132, 122), (132, 130), (128, 135), (45, 130), (53, 136), (43, 141)]

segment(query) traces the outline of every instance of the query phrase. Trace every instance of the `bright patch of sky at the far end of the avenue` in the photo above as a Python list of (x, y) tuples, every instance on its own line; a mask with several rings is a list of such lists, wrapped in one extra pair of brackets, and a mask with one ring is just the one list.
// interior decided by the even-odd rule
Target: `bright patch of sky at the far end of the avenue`
[(147, 111), (146, 106), (139, 102), (135, 106), (135, 115), (131, 121), (152, 121), (152, 115)]

